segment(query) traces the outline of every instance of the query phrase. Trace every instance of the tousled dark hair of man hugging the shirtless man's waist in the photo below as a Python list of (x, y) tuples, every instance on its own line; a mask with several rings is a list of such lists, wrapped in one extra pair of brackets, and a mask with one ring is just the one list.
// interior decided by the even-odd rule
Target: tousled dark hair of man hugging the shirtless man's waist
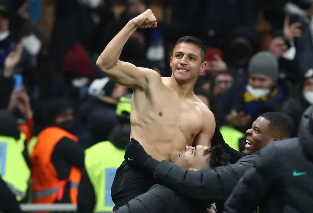
[(209, 147), (204, 150), (203, 155), (211, 153), (210, 167), (225, 166), (229, 164), (229, 156), (224, 151), (222, 145)]

